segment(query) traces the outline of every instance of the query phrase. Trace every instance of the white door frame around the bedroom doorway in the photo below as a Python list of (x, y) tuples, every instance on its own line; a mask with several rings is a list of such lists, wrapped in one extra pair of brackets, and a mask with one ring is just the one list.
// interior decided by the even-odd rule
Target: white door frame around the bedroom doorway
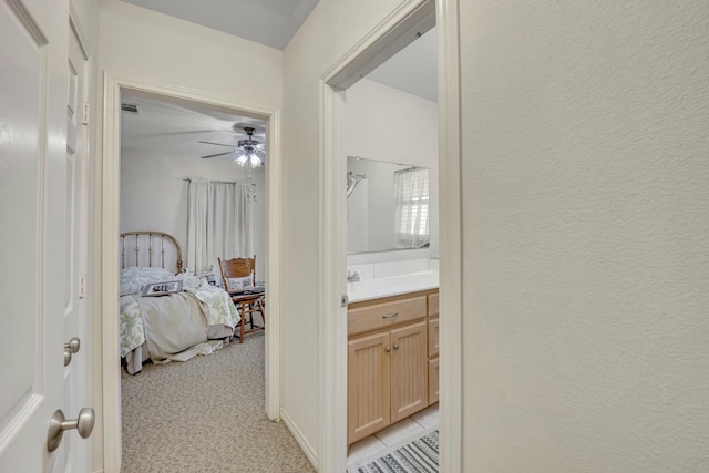
[[(256, 172), (251, 172), (250, 175), (245, 175), (245, 179), (255, 183), (255, 193), (249, 198), (254, 199), (254, 203), (259, 203), (258, 207), (263, 218), (257, 225), (255, 225), (255, 233), (260, 233), (263, 238), (255, 245), (255, 253), (257, 253), (257, 278), (264, 280), (267, 287), (267, 307), (268, 307), (268, 330), (264, 336), (265, 342), (265, 408), (266, 414), (270, 420), (278, 420), (279, 412), (279, 317), (280, 317), (280, 287), (279, 280), (274, 275), (280, 274), (280, 255), (279, 243), (277, 241), (277, 235), (279, 235), (279, 214), (280, 214), (280, 196), (278, 189), (280, 187), (280, 112), (278, 110), (255, 110), (253, 106), (243, 106), (232, 103), (228, 99), (210, 96), (199, 91), (185, 91), (183, 88), (169, 88), (164, 84), (151, 84), (145, 82), (136, 82), (130, 79), (122, 79), (115, 76), (106, 76), (105, 88), (105, 128), (104, 128), (104, 166), (103, 166), (103, 188), (104, 199), (102, 203), (102, 209), (104, 214), (104, 224), (102, 228), (102, 277), (103, 277), (103, 290), (102, 290), (102, 309), (104, 313), (105, 327), (119, 327), (119, 308), (117, 308), (117, 294), (119, 288), (119, 265), (117, 259), (110, 255), (119, 255), (117, 235), (124, 228), (124, 220), (126, 215), (121, 212), (119, 214), (119, 203), (121, 202), (121, 113), (122, 103), (124, 97), (138, 99), (147, 103), (153, 101), (162, 103), (166, 109), (173, 109), (189, 105), (192, 109), (199, 109), (206, 115), (205, 120), (228, 121), (229, 117), (238, 116), (242, 121), (233, 122), (233, 125), (242, 123), (248, 123), (257, 128), (260, 125), (260, 131), (265, 142), (266, 151), (266, 166), (261, 168), (260, 176)], [(129, 105), (130, 107), (130, 105)], [(205, 112), (206, 111), (206, 112)], [(138, 111), (140, 113), (140, 111)], [(188, 114), (183, 111), (184, 115)], [(209, 119), (210, 117), (210, 119)], [(201, 126), (195, 128), (194, 133), (189, 133), (185, 130), (173, 131), (173, 136), (181, 136), (187, 141), (207, 141), (214, 143), (220, 143), (217, 135), (204, 136), (204, 140), (197, 137), (197, 134), (205, 131), (212, 131), (206, 127), (207, 124), (203, 121)], [(234, 127), (234, 126), (233, 126)], [(145, 130), (144, 130), (145, 132)], [(171, 132), (164, 132), (171, 133)], [(234, 133), (234, 132), (232, 132)], [(160, 133), (152, 133), (157, 135)], [(151, 135), (151, 133), (145, 133)], [(150, 137), (150, 136), (148, 136)], [(228, 144), (225, 142), (224, 144)], [(207, 146), (207, 145), (205, 145)], [(210, 145), (214, 147), (222, 147), (219, 144)], [(208, 147), (208, 146), (207, 146)], [(164, 155), (171, 154), (169, 147), (161, 152)], [(172, 153), (176, 153), (174, 150)], [(199, 163), (203, 160), (201, 156), (219, 154), (210, 152), (209, 150), (204, 152), (197, 152), (192, 156), (192, 160)], [(165, 158), (165, 156), (163, 156)], [(222, 163), (224, 167), (224, 163)], [(234, 161), (229, 160), (229, 165), (234, 165)], [(219, 167), (218, 165), (216, 167)], [(187, 183), (185, 178), (191, 177), (185, 175), (178, 178), (174, 166), (165, 167), (166, 175), (168, 176), (167, 187), (173, 187), (173, 191), (177, 188), (177, 194), (184, 192)], [(172, 172), (171, 172), (172, 171)], [(140, 174), (147, 174), (147, 168), (137, 171)], [(183, 168), (183, 172), (186, 171)], [(215, 171), (219, 173), (219, 171)], [(145, 176), (143, 176), (145, 177)], [(213, 176), (207, 176), (214, 178)], [(238, 176), (237, 176), (238, 177)], [(228, 181), (228, 177), (224, 178)], [(157, 186), (161, 187), (161, 186)], [(182, 188), (182, 191), (179, 189)], [(162, 191), (161, 191), (162, 189)], [(152, 188), (143, 195), (152, 195), (154, 198), (152, 202), (163, 203), (163, 197), (168, 193), (166, 188)], [(182, 194), (181, 194), (182, 195)], [(115, 196), (115, 197), (112, 197)], [(145, 204), (143, 204), (145, 205)], [(122, 209), (123, 210), (123, 209)], [(167, 213), (169, 214), (169, 212)], [(173, 214), (174, 215), (174, 214)], [(140, 216), (133, 216), (135, 222), (141, 222)], [(155, 224), (155, 219), (151, 219), (150, 224)], [(137, 225), (137, 224), (136, 224)], [(275, 237), (274, 237), (275, 235)], [(258, 255), (260, 251), (260, 255)], [(258, 257), (260, 256), (260, 257)], [(260, 261), (259, 261), (260, 260)], [(192, 268), (191, 268), (192, 269)], [(217, 270), (218, 274), (218, 270)], [(238, 345), (238, 342), (237, 342)], [(120, 382), (120, 360), (114, 353), (120, 351), (120, 338), (119, 330), (105, 330), (103, 333), (103, 370), (104, 373), (113, 372), (114, 376), (104, 377), (104, 424), (105, 424), (105, 465), (107, 467), (115, 466), (117, 470), (121, 464), (121, 382)], [(218, 356), (218, 351), (215, 353)], [(188, 363), (189, 361), (187, 361)]]

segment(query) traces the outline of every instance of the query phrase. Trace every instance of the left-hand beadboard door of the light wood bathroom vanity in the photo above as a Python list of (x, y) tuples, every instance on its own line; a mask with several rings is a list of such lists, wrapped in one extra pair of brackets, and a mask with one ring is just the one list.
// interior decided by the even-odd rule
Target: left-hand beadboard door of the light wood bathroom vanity
[(388, 331), (350, 340), (347, 348), (347, 441), (350, 444), (390, 423), (393, 350)]

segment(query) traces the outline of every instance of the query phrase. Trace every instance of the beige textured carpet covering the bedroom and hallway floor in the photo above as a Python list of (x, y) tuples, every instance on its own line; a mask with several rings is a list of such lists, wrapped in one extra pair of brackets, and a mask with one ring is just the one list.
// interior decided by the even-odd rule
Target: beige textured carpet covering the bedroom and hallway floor
[(264, 332), (214, 354), (121, 377), (123, 473), (315, 472), (266, 418)]

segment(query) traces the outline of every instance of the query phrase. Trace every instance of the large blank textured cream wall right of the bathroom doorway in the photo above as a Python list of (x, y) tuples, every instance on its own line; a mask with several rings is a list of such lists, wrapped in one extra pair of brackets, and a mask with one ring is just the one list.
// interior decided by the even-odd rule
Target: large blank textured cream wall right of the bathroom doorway
[(460, 12), (464, 470), (709, 471), (709, 4)]

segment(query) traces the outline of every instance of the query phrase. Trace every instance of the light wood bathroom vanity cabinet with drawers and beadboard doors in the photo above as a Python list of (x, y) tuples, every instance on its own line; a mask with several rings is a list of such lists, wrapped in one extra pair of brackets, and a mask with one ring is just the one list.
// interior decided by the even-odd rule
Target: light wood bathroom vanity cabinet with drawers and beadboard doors
[(438, 287), (348, 305), (348, 445), (438, 402)]

